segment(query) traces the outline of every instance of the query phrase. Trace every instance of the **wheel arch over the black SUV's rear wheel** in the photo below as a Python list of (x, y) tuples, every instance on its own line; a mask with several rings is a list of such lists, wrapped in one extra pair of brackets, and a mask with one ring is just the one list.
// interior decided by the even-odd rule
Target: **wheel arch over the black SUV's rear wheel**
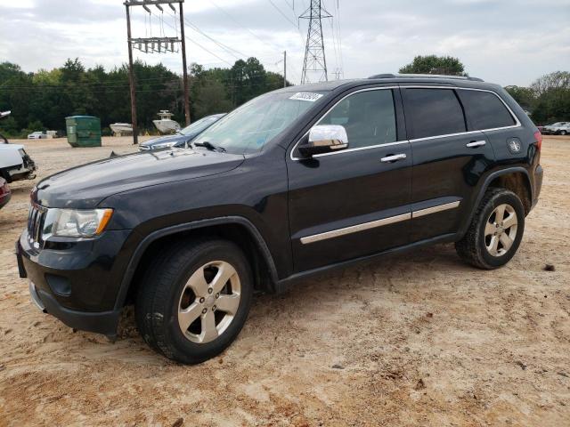
[(476, 206), (481, 203), (481, 200), (485, 196), (485, 192), (490, 187), (509, 189), (510, 191), (513, 191), (523, 202), (525, 214), (530, 212), (533, 203), (533, 186), (531, 184), (528, 171), (522, 166), (509, 167), (495, 171), (487, 175), (485, 181), (483, 181), (483, 184), (479, 188), (468, 219), (461, 225), (458, 233), (458, 239), (462, 238), (467, 232), (469, 224), (473, 220)]

